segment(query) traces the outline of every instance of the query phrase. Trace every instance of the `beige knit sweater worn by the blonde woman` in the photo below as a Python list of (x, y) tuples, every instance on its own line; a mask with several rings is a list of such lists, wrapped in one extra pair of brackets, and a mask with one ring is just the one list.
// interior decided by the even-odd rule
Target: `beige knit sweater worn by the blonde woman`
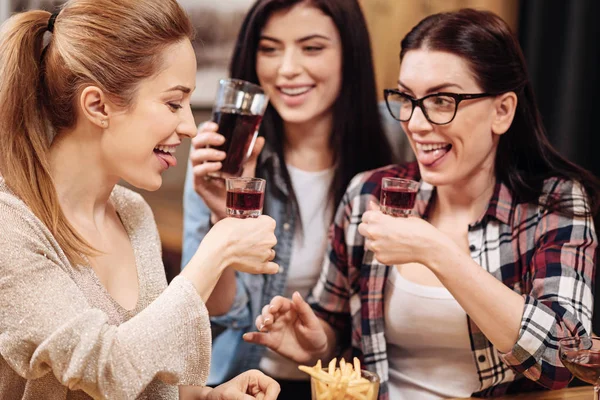
[(122, 308), (88, 266), (73, 266), (0, 177), (0, 399), (177, 399), (210, 364), (204, 303), (183, 277), (167, 287), (142, 197), (111, 201), (134, 248), (139, 299)]

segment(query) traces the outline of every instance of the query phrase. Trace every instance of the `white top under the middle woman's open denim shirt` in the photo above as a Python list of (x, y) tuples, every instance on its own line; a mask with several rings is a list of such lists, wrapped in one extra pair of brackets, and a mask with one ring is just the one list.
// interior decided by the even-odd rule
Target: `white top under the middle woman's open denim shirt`
[[(329, 186), (334, 170), (307, 172), (291, 165), (287, 167), (300, 208), (302, 230), (298, 224), (283, 296), (290, 298), (298, 291), (306, 298), (319, 279), (327, 249), (327, 230), (333, 213)], [(298, 364), (269, 349), (260, 361), (260, 369), (273, 378), (308, 380), (308, 375), (298, 370)]]

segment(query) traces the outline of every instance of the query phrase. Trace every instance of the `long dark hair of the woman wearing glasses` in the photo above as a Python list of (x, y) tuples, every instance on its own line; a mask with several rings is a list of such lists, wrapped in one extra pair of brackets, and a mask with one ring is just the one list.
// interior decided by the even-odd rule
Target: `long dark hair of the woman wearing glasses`
[[(598, 217), (600, 181), (591, 172), (562, 157), (546, 136), (525, 57), (510, 28), (489, 11), (462, 9), (431, 15), (417, 24), (402, 40), (400, 61), (415, 49), (445, 51), (463, 58), (484, 92), (515, 92), (517, 109), (512, 125), (500, 137), (496, 155), (496, 177), (511, 190), (519, 203), (540, 205), (544, 180), (559, 177), (583, 185), (588, 209), (571, 207), (572, 199), (549, 199), (542, 206), (567, 215)], [(598, 226), (598, 221), (595, 221)]]

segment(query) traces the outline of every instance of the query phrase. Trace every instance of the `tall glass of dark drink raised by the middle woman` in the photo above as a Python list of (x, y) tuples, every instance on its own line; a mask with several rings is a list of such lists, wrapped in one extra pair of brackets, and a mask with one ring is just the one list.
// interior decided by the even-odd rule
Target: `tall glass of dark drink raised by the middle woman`
[(219, 81), (212, 120), (219, 125), (219, 133), (225, 136), (225, 143), (215, 148), (224, 151), (226, 157), (221, 169), (210, 176), (241, 175), (268, 103), (269, 97), (258, 85), (239, 79)]

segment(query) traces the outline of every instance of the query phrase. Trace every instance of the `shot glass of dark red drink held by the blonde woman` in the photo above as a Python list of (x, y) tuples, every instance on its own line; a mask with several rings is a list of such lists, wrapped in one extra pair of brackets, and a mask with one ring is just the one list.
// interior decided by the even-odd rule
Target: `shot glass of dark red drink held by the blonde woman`
[(227, 178), (226, 213), (234, 218), (257, 218), (262, 214), (265, 180), (261, 178)]

